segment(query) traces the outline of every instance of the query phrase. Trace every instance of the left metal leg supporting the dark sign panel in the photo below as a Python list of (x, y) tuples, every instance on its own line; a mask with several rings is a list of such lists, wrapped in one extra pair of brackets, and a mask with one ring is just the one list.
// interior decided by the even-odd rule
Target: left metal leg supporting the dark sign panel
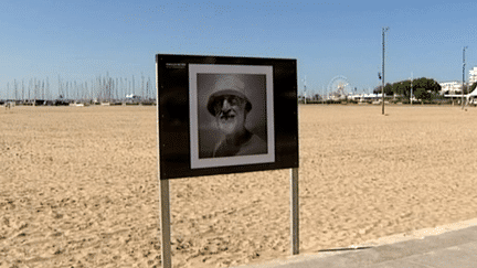
[(169, 210), (169, 180), (160, 181), (161, 202), (161, 250), (162, 268), (171, 268), (171, 244), (170, 244), (170, 210)]

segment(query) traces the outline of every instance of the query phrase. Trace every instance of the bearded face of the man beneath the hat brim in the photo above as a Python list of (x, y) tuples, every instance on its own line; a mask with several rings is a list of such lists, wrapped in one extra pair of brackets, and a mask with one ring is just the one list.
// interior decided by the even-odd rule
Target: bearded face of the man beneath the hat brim
[(218, 98), (214, 104), (215, 119), (225, 135), (236, 133), (245, 128), (246, 101), (233, 95)]

